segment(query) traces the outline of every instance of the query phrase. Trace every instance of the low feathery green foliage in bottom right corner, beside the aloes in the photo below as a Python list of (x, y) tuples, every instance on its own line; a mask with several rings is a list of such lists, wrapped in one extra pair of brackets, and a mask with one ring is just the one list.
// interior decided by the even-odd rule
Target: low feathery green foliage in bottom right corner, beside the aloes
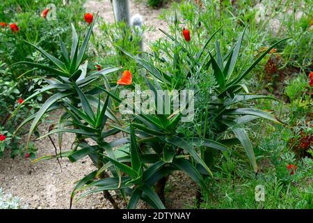
[[(225, 160), (218, 162), (216, 179), (209, 182), (215, 200), (204, 193), (202, 208), (312, 208), (312, 159), (296, 160), (294, 153), (288, 151), (288, 137), (284, 139), (284, 135), (289, 136), (287, 130), (278, 128), (266, 133), (268, 136), (258, 137), (256, 154), (258, 162), (264, 164), (257, 178), (247, 179), (240, 160), (225, 153)], [(281, 135), (282, 139), (279, 139)], [(292, 175), (288, 164), (298, 167)], [(257, 185), (264, 186), (264, 201), (255, 201)]]

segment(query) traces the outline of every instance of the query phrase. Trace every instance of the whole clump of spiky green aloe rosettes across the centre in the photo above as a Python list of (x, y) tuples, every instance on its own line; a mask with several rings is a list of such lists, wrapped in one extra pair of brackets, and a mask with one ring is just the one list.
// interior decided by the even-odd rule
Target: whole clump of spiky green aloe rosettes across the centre
[[(198, 75), (207, 75), (212, 72), (216, 79), (216, 86), (214, 91), (209, 93), (204, 106), (199, 106), (199, 111), (204, 119), (195, 120), (195, 123), (201, 126), (200, 130), (194, 130), (192, 136), (187, 136), (178, 131), (179, 126), (182, 125), (180, 122), (182, 113), (177, 111), (167, 115), (157, 114), (157, 112), (153, 115), (135, 112), (133, 116), (129, 117), (126, 125), (115, 117), (110, 109), (111, 100), (118, 103), (121, 103), (122, 100), (115, 95), (118, 86), (112, 89), (106, 75), (118, 71), (120, 68), (107, 68), (87, 75), (87, 62), (83, 61), (93, 24), (91, 24), (80, 48), (79, 38), (73, 26), (71, 56), (61, 41), (63, 56), (61, 60), (34, 45), (56, 68), (28, 61), (18, 63), (47, 71), (45, 79), (49, 86), (34, 93), (25, 101), (52, 89), (57, 91), (42, 105), (37, 114), (26, 118), (22, 123), (25, 125), (33, 120), (28, 141), (40, 122), (40, 118), (54, 109), (64, 109), (65, 112), (58, 125), (51, 128), (42, 137), (59, 134), (58, 141), (61, 148), (63, 132), (72, 132), (77, 135), (72, 150), (40, 157), (36, 161), (67, 157), (71, 162), (77, 162), (82, 157), (88, 156), (97, 166), (97, 170), (79, 180), (74, 187), (70, 197), (71, 204), (78, 194), (79, 197), (75, 201), (79, 201), (90, 193), (104, 192), (106, 199), (109, 199), (115, 208), (119, 208), (109, 193), (109, 190), (116, 190), (117, 194), (120, 194), (125, 201), (128, 196), (130, 197), (127, 208), (136, 208), (140, 199), (153, 208), (166, 208), (163, 191), (166, 179), (173, 171), (184, 171), (198, 184), (201, 190), (209, 192), (204, 178), (214, 177), (214, 171), (211, 171), (214, 162), (212, 150), (227, 151), (234, 144), (242, 144), (253, 170), (257, 172), (252, 143), (248, 132), (241, 125), (256, 118), (282, 122), (271, 113), (255, 109), (252, 106), (245, 107), (245, 102), (250, 100), (273, 100), (273, 98), (268, 98), (266, 95), (242, 93), (242, 89), (246, 90), (247, 87), (241, 84), (241, 80), (269, 50), (283, 40), (269, 47), (246, 71), (236, 76), (234, 70), (246, 29), (236, 45), (225, 56), (223, 56), (217, 40), (216, 49), (207, 49), (219, 30), (209, 37), (204, 43), (204, 47), (198, 52), (191, 52), (176, 37), (163, 32), (172, 40), (172, 47), (163, 49), (168, 54), (167, 57), (161, 58), (153, 55), (154, 60), (156, 59), (155, 63), (151, 62), (152, 59), (132, 56), (121, 49), (150, 73), (150, 75), (145, 74), (143, 78), (147, 88), (154, 93), (156, 105), (161, 99), (158, 98), (157, 90), (184, 89), (189, 84), (189, 78), (197, 78)], [(172, 69), (174, 73), (163, 70), (169, 66), (174, 68)], [(99, 77), (104, 79), (104, 87), (93, 84)], [(199, 92), (201, 93), (201, 91)], [(103, 93), (106, 95), (104, 101), (102, 100)], [(199, 100), (203, 95), (198, 94), (195, 97)], [(164, 106), (166, 105), (163, 104)], [(226, 133), (230, 131), (234, 133), (233, 136), (226, 137), (228, 135)], [(124, 137), (115, 141), (106, 140), (106, 137), (118, 132), (123, 132)], [(88, 144), (87, 139), (91, 139), (95, 144)]]

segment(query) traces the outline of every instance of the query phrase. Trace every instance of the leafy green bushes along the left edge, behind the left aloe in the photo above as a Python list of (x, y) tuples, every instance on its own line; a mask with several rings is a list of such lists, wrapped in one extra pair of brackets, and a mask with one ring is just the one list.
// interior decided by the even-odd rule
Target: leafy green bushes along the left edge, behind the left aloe
[[(79, 1), (80, 2), (80, 1)], [(50, 1), (15, 1), (9, 0), (1, 3), (0, 22), (6, 22), (8, 26), (0, 29), (0, 77), (1, 77), (1, 127), (0, 133), (6, 134), (6, 144), (3, 146), (12, 149), (11, 156), (25, 154), (24, 146), (19, 144), (20, 137), (25, 133), (24, 130), (19, 134), (13, 135), (17, 126), (22, 123), (26, 116), (32, 116), (38, 111), (38, 102), (42, 101), (42, 95), (37, 95), (31, 100), (24, 102), (18, 112), (15, 109), (19, 105), (18, 100), (24, 100), (37, 89), (45, 86), (42, 76), (45, 71), (32, 69), (24, 66), (11, 65), (18, 61), (31, 60), (42, 63), (44, 57), (33, 51), (31, 45), (26, 45), (24, 41), (45, 47), (47, 52), (61, 55), (60, 49), (56, 48), (60, 37), (66, 37), (70, 23), (78, 24), (83, 18), (81, 4), (71, 3), (63, 6), (63, 1), (54, 1), (56, 5), (56, 20), (47, 20), (40, 17), (40, 13)], [(50, 12), (52, 13), (52, 12)], [(19, 31), (13, 33), (9, 24), (16, 23)], [(66, 38), (65, 42), (68, 42)], [(45, 63), (49, 66), (51, 64)], [(12, 116), (14, 114), (14, 116)], [(11, 117), (12, 116), (12, 117)], [(33, 146), (31, 146), (33, 148)], [(35, 148), (29, 149), (33, 157)]]

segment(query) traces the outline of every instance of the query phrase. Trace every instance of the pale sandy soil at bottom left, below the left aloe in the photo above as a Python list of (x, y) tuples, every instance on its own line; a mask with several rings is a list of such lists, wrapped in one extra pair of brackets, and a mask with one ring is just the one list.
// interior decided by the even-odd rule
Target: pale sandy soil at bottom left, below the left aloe
[[(60, 112), (51, 115), (57, 117)], [(47, 120), (40, 125), (40, 132), (45, 133), (53, 120)], [(56, 140), (56, 136), (52, 137)], [(70, 149), (73, 134), (65, 134), (63, 150)], [(54, 147), (49, 139), (35, 141), (38, 157), (54, 154)], [(93, 163), (84, 158), (77, 163), (71, 163), (63, 158), (62, 171), (56, 160), (48, 160), (33, 164), (31, 160), (16, 157), (14, 160), (6, 153), (0, 158), (0, 187), (6, 192), (20, 197), (29, 208), (69, 208), (70, 192), (74, 182), (93, 171)], [(111, 208), (102, 194), (94, 194), (90, 199), (82, 199), (73, 208)]]

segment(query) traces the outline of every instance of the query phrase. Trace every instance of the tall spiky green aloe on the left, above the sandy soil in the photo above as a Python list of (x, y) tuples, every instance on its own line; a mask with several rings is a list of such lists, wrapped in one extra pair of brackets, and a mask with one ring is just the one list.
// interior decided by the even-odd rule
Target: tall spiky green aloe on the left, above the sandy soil
[[(65, 44), (62, 40), (60, 40), (62, 56), (61, 59), (56, 59), (56, 57), (45, 52), (44, 49), (33, 45), (32, 43), (26, 42), (27, 44), (30, 44), (35, 49), (37, 49), (43, 56), (45, 56), (49, 63), (53, 64), (53, 66), (45, 66), (40, 63), (33, 63), (31, 61), (21, 61), (13, 65), (17, 66), (25, 64), (27, 66), (46, 71), (45, 77), (42, 78), (45, 79), (48, 85), (33, 93), (33, 95), (29, 96), (29, 98), (26, 98), (23, 103), (31, 100), (32, 98), (35, 98), (42, 93), (52, 93), (42, 105), (40, 110), (32, 116), (26, 118), (23, 123), (19, 125), (17, 130), (15, 130), (16, 134), (16, 132), (19, 131), (22, 126), (26, 125), (26, 123), (29, 123), (30, 121), (33, 121), (31, 123), (27, 137), (27, 148), (31, 139), (31, 135), (40, 123), (42, 116), (49, 114), (55, 109), (63, 109), (65, 111), (60, 116), (58, 123), (51, 125), (48, 134), (42, 136), (47, 137), (50, 134), (58, 133), (58, 147), (60, 149), (60, 153), (53, 156), (41, 157), (38, 160), (47, 160), (51, 157), (57, 159), (59, 157), (68, 157), (71, 162), (76, 162), (82, 157), (88, 155), (100, 169), (102, 167), (102, 162), (99, 162), (99, 157), (102, 157), (104, 152), (108, 153), (109, 155), (113, 154), (110, 153), (110, 144), (104, 141), (104, 139), (112, 134), (117, 133), (118, 131), (104, 132), (104, 125), (106, 124), (108, 118), (111, 118), (112, 121), (117, 123), (118, 120), (109, 109), (109, 98), (107, 98), (105, 102), (102, 102), (100, 95), (97, 94), (97, 88), (95, 86), (90, 88), (90, 86), (99, 78), (104, 79), (105, 82), (105, 75), (116, 72), (120, 70), (120, 68), (105, 68), (88, 75), (88, 61), (84, 58), (84, 56), (88, 47), (90, 36), (92, 35), (95, 20), (93, 20), (93, 23), (90, 24), (90, 27), (84, 36), (81, 45), (80, 37), (77, 35), (74, 25), (72, 25), (72, 46), (70, 52), (67, 52)], [(88, 89), (86, 87), (88, 87)], [(83, 91), (82, 89), (87, 90)], [(81, 111), (79, 107), (82, 107), (83, 111)], [(93, 109), (97, 109), (97, 112), (94, 113)], [(69, 128), (70, 126), (72, 128)], [(72, 150), (63, 153), (61, 147), (64, 132), (75, 133), (77, 137), (71, 148)], [(86, 138), (88, 137), (94, 139), (97, 142), (97, 146), (90, 146), (86, 142)], [(54, 143), (53, 146), (57, 153), (57, 148)], [(111, 157), (114, 158), (113, 155)], [(115, 172), (120, 177), (119, 169), (116, 169)], [(104, 177), (105, 176), (103, 174), (101, 178)], [(118, 208), (109, 192), (105, 192), (104, 195), (111, 201), (115, 208)]]

